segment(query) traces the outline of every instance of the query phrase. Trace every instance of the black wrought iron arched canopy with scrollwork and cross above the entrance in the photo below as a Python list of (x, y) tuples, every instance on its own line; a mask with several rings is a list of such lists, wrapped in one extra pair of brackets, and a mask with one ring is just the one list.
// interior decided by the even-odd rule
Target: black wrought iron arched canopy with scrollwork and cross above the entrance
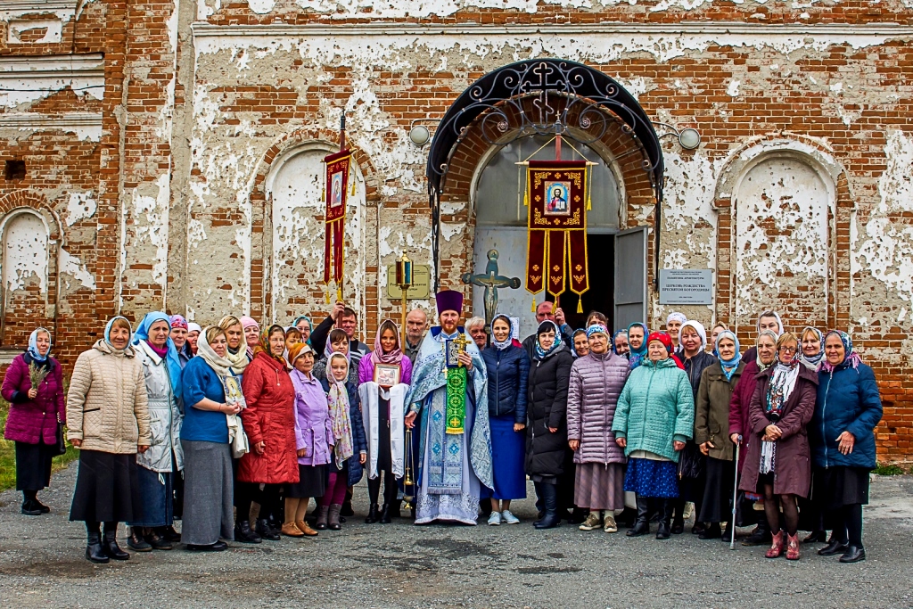
[[(524, 102), (533, 98), (535, 110)], [(561, 104), (553, 100), (561, 98)], [(608, 110), (608, 113), (606, 112)], [(645, 154), (644, 171), (663, 196), (663, 152), (653, 122), (634, 96), (595, 68), (565, 59), (528, 59), (489, 72), (466, 89), (438, 123), (428, 152), (426, 175), (432, 214), (432, 255), (437, 286), (439, 210), (449, 163), (468, 127), (480, 116), (481, 136), (505, 144), (526, 135), (554, 134), (581, 143), (603, 137), (614, 119), (639, 142)], [(569, 124), (570, 123), (570, 124)], [(492, 140), (490, 134), (496, 134)]]

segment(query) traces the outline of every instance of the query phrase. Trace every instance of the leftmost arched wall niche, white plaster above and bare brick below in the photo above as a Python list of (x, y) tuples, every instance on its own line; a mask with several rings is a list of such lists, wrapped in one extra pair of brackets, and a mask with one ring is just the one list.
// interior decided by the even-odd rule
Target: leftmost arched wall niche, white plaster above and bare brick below
[(16, 209), (0, 219), (0, 338), (5, 346), (22, 346), (48, 315), (50, 231), (42, 215)]

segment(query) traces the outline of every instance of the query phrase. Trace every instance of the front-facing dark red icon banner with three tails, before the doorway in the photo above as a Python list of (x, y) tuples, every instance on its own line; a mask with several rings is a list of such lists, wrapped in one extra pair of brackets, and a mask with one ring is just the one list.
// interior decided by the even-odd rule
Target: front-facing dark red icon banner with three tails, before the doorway
[[(533, 294), (545, 289), (557, 297), (569, 284), (577, 296), (590, 289), (586, 211), (591, 205), (588, 203), (587, 173), (585, 160), (530, 161), (527, 167), (525, 201), (530, 214), (526, 289)], [(580, 302), (577, 306), (581, 308)]]

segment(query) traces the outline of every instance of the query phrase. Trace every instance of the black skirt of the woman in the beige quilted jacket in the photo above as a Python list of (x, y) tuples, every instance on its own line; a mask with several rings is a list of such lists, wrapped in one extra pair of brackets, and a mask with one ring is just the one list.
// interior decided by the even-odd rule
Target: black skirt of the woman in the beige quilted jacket
[(79, 451), (79, 474), (69, 520), (129, 522), (141, 518), (136, 455)]

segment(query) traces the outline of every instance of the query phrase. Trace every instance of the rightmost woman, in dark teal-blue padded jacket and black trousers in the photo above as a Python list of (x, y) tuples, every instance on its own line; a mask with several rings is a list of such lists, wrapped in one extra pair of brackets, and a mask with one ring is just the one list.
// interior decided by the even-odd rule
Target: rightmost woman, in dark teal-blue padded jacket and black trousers
[(831, 542), (818, 553), (842, 553), (840, 562), (865, 561), (862, 507), (868, 504), (869, 472), (876, 467), (875, 426), (881, 420), (881, 397), (875, 374), (853, 351), (849, 334), (827, 332), (824, 357), (809, 427), (814, 496), (825, 517), (837, 524)]

